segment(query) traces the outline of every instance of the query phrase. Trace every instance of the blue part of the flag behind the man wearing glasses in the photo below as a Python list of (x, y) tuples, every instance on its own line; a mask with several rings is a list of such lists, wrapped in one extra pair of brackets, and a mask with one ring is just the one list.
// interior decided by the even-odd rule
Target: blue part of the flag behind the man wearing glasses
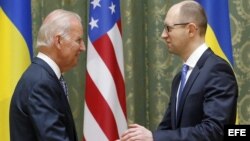
[(233, 64), (228, 0), (197, 0), (206, 11), (208, 23), (212, 27), (220, 47)]

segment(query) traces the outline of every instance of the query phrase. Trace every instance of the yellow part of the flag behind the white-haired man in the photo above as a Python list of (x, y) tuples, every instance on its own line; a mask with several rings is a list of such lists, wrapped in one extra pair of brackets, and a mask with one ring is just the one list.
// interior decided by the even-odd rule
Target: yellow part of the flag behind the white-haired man
[[(23, 33), (3, 9), (3, 3), (5, 4), (6, 0), (0, 2), (0, 141), (9, 141), (11, 96), (17, 81), (30, 64), (31, 56)], [(9, 2), (13, 1), (9, 0)], [(27, 30), (31, 31), (31, 27)]]

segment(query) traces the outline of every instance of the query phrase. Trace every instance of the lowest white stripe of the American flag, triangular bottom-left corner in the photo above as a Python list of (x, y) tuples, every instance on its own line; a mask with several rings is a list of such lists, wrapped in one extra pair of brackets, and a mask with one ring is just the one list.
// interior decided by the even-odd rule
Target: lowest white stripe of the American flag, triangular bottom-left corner
[(86, 103), (84, 104), (84, 107), (83, 134), (86, 141), (108, 141), (108, 138), (90, 113)]

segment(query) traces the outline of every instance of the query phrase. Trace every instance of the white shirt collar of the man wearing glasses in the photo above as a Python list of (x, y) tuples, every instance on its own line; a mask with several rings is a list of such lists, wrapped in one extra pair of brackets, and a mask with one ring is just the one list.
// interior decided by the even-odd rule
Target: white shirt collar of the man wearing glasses
[(201, 55), (208, 49), (208, 46), (203, 43), (201, 44), (187, 59), (185, 64), (189, 67), (194, 68), (198, 60), (200, 59)]

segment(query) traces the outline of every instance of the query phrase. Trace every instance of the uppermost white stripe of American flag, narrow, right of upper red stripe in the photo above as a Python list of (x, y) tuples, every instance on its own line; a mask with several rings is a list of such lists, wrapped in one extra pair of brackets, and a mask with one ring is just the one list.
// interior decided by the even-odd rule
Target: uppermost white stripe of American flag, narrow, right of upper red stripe
[(108, 32), (109, 38), (114, 46), (116, 60), (118, 62), (120, 71), (122, 73), (124, 79), (124, 62), (123, 62), (123, 46), (122, 46), (122, 36), (120, 34), (120, 30), (115, 24), (111, 30)]

